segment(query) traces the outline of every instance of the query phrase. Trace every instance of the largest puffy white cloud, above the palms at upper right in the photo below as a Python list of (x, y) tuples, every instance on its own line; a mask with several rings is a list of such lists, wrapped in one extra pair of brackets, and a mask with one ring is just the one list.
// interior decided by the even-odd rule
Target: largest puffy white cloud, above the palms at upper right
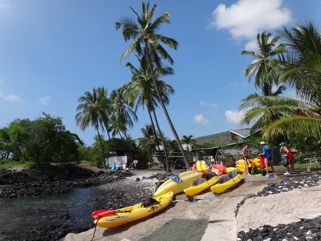
[(258, 33), (274, 30), (291, 21), (291, 11), (281, 7), (282, 1), (239, 0), (230, 7), (219, 4), (213, 11), (212, 25), (228, 29), (235, 39), (248, 39), (246, 49), (253, 49)]

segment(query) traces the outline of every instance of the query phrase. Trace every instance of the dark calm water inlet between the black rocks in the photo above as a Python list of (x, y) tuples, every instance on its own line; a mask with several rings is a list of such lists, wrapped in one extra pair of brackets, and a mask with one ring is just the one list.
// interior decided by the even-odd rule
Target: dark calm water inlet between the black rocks
[[(94, 201), (94, 198), (98, 198)], [(14, 232), (15, 229), (69, 224), (86, 227), (93, 222), (91, 213), (98, 207), (105, 207), (106, 200), (100, 192), (76, 188), (69, 193), (48, 196), (0, 199), (0, 239), (12, 240), (30, 238), (37, 234)], [(60, 215), (68, 213), (68, 220)], [(14, 237), (14, 238), (13, 238)]]

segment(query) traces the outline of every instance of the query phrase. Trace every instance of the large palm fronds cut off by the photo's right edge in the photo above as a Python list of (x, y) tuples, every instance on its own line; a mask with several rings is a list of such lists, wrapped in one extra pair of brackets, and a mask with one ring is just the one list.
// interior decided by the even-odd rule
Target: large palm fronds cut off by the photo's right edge
[(266, 126), (264, 137), (292, 135), (299, 131), (304, 136), (321, 137), (321, 31), (313, 22), (301, 21), (288, 29), (282, 27), (278, 34), (288, 47), (279, 63), (280, 79), (296, 91), (306, 102), (305, 108), (295, 104), (280, 108), (295, 109), (293, 115), (281, 117)]

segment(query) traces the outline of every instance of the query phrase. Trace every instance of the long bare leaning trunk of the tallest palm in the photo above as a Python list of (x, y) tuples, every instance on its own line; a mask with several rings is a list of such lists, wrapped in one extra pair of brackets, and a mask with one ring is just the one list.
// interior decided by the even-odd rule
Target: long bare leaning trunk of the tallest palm
[(151, 71), (151, 74), (152, 74), (152, 79), (153, 79), (153, 82), (154, 82), (154, 85), (155, 85), (155, 90), (156, 90), (157, 97), (158, 97), (158, 99), (159, 99), (159, 101), (160, 101), (161, 107), (163, 108), (163, 111), (164, 111), (164, 114), (165, 114), (166, 119), (167, 119), (167, 121), (168, 121), (169, 127), (170, 127), (170, 129), (172, 130), (173, 135), (174, 135), (174, 137), (175, 137), (175, 139), (176, 139), (176, 141), (177, 141), (178, 147), (179, 147), (180, 151), (182, 152), (182, 156), (183, 156), (183, 158), (184, 158), (184, 162), (185, 162), (185, 164), (186, 164), (186, 169), (187, 169), (187, 168), (190, 167), (189, 162), (188, 162), (188, 158), (187, 158), (186, 153), (184, 152), (184, 148), (183, 148), (183, 146), (182, 146), (182, 143), (180, 142), (180, 139), (179, 139), (179, 137), (178, 137), (178, 135), (177, 135), (177, 132), (176, 132), (176, 130), (175, 130), (175, 128), (174, 128), (174, 125), (173, 125), (172, 121), (171, 121), (170, 118), (169, 118), (169, 114), (168, 114), (168, 112), (167, 112), (167, 109), (166, 109), (166, 106), (165, 106), (165, 104), (164, 104), (164, 101), (163, 101), (163, 99), (161, 98), (161, 94), (160, 94), (160, 91), (159, 91), (159, 89), (158, 89), (157, 82), (156, 82), (156, 79), (155, 79), (155, 75), (154, 75), (154, 72), (153, 72), (153, 68), (152, 68), (152, 64), (151, 64), (151, 59), (150, 59), (150, 57), (149, 57), (149, 48), (148, 48), (148, 42), (147, 42), (147, 40), (145, 40), (145, 56), (147, 57), (148, 65), (149, 65), (149, 68), (150, 68), (150, 71)]

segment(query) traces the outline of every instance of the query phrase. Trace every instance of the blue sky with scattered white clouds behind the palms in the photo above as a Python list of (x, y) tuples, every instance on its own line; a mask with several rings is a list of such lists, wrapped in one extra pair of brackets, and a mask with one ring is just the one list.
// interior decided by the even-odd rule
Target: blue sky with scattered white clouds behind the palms
[[(164, 77), (175, 89), (167, 109), (179, 137), (244, 128), (239, 126), (243, 113), (238, 107), (260, 90), (244, 74), (253, 58), (241, 56), (241, 51), (255, 51), (258, 33), (275, 35), (275, 29), (303, 19), (321, 28), (319, 0), (156, 3), (155, 16), (170, 11), (170, 23), (161, 24), (157, 33), (179, 42), (177, 50), (165, 47), (175, 61), (175, 75)], [(137, 0), (0, 0), (0, 128), (46, 112), (63, 118), (67, 130), (92, 145), (95, 129), (83, 132), (74, 120), (78, 98), (94, 87), (108, 87), (110, 93), (130, 82), (125, 65), (138, 67), (138, 62), (132, 54), (120, 63), (132, 40), (125, 42), (114, 23), (134, 18), (129, 7), (140, 13), (141, 6)], [(283, 95), (295, 97), (291, 89)], [(174, 139), (163, 110), (156, 114), (165, 136)], [(137, 116), (129, 129), (134, 139), (142, 137), (141, 128), (150, 123), (146, 110), (138, 110)]]

